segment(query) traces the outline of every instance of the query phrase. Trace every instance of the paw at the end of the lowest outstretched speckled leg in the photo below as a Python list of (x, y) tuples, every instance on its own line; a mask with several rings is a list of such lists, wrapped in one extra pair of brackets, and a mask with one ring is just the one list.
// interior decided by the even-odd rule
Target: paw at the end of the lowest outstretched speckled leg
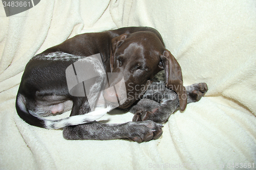
[(138, 143), (158, 139), (163, 134), (163, 126), (152, 120), (130, 122), (128, 125), (130, 130), (128, 138)]

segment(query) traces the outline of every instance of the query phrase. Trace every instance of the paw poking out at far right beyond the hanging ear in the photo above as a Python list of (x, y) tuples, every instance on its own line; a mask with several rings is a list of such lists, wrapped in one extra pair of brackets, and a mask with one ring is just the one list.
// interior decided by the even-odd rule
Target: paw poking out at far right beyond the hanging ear
[(208, 91), (206, 83), (197, 83), (186, 87), (187, 103), (198, 102)]

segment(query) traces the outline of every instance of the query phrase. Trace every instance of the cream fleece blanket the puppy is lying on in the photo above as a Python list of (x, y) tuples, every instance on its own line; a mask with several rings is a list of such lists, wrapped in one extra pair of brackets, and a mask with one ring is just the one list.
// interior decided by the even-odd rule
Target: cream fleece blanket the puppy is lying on
[[(204, 98), (170, 116), (160, 139), (69, 141), (17, 116), (31, 57), (80, 33), (127, 26), (156, 28), (185, 85), (208, 84)], [(254, 0), (41, 0), (10, 17), (0, 5), (0, 169), (255, 169), (255, 45)], [(132, 117), (115, 110), (101, 119)]]

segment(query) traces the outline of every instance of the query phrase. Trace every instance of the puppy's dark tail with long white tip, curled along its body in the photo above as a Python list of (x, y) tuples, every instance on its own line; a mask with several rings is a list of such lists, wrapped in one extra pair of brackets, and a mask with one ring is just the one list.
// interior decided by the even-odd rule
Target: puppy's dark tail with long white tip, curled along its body
[(70, 116), (58, 120), (50, 120), (47, 118), (36, 117), (30, 114), (26, 108), (26, 100), (22, 94), (18, 93), (16, 98), (16, 110), (19, 117), (22, 118), (29, 125), (46, 129), (60, 129), (66, 126), (74, 126), (93, 122), (94, 120), (102, 117), (104, 114), (108, 113), (112, 109), (112, 106), (108, 106), (104, 109), (93, 111), (87, 114)]

